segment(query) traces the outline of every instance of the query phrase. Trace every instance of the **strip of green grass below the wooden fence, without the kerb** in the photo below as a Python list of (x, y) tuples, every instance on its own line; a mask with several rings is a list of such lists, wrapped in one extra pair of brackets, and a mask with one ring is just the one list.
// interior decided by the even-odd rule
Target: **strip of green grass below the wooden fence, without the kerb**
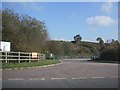
[(58, 60), (41, 60), (40, 62), (22, 62), (22, 63), (2, 63), (2, 69), (6, 68), (21, 68), (21, 67), (35, 67), (44, 66), (50, 64), (60, 63)]

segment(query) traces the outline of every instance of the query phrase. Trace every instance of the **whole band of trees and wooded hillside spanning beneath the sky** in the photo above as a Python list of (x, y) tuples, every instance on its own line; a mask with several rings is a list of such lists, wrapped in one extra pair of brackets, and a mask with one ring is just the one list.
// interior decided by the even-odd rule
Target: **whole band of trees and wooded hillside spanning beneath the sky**
[(85, 42), (78, 34), (71, 42), (50, 40), (45, 22), (9, 9), (2, 11), (2, 28), (2, 40), (11, 42), (12, 51), (53, 53), (57, 57), (100, 55), (111, 60), (120, 56), (120, 44), (114, 39), (111, 43), (104, 43), (100, 37), (96, 39), (99, 43)]

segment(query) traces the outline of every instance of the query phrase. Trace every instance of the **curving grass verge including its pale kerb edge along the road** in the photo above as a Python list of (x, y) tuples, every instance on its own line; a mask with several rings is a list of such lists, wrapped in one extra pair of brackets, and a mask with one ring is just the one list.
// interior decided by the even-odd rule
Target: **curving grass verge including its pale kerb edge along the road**
[(18, 69), (30, 69), (30, 68), (44, 68), (49, 66), (55, 66), (61, 64), (58, 60), (44, 60), (40, 62), (31, 63), (16, 63), (16, 64), (3, 64), (1, 70), (18, 70)]

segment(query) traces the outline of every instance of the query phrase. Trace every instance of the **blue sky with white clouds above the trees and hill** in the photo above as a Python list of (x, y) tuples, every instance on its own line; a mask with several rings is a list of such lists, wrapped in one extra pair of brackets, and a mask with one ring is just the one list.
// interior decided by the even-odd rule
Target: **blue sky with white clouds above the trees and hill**
[(44, 21), (52, 40), (118, 39), (117, 2), (2, 2), (2, 9)]

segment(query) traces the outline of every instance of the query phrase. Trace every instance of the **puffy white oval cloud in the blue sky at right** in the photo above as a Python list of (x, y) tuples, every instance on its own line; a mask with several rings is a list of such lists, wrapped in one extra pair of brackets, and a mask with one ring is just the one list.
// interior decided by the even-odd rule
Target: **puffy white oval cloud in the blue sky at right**
[(111, 26), (111, 25), (113, 25), (115, 23), (115, 20), (113, 20), (109, 16), (95, 16), (95, 17), (87, 18), (86, 22), (89, 25)]

